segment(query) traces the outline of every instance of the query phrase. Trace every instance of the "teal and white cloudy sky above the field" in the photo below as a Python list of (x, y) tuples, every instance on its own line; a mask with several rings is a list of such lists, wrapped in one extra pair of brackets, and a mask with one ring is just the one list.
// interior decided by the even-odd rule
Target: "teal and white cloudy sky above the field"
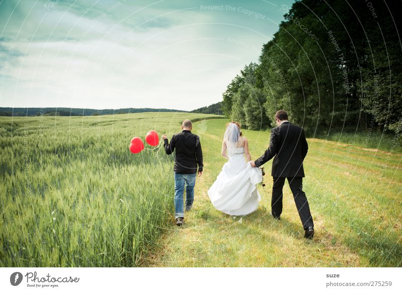
[(0, 107), (222, 101), (293, 1), (0, 0)]

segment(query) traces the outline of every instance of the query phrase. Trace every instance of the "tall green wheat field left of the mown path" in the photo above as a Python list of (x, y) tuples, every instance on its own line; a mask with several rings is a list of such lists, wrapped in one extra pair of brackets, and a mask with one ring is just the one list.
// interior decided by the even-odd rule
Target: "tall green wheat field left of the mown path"
[(130, 139), (210, 116), (0, 118), (0, 265), (138, 265), (173, 211), (173, 157)]

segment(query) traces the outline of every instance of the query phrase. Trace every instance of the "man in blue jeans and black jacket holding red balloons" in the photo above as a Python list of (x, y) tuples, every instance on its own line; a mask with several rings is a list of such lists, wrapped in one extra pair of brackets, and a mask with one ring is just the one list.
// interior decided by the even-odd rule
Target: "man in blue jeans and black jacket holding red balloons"
[(199, 137), (191, 133), (192, 124), (190, 120), (183, 121), (182, 131), (174, 134), (167, 140), (166, 134), (162, 136), (166, 154), (172, 154), (176, 149), (174, 158), (174, 216), (176, 225), (184, 224), (184, 185), (185, 185), (185, 211), (190, 211), (194, 201), (195, 176), (203, 174), (203, 151)]

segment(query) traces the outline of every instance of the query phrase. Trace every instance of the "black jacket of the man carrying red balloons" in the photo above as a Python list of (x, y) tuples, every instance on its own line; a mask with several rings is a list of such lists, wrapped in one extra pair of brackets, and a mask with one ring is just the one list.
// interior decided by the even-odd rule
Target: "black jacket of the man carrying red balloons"
[(197, 164), (198, 171), (203, 171), (203, 150), (197, 135), (192, 134), (191, 131), (183, 130), (173, 135), (170, 144), (168, 144), (167, 139), (164, 139), (164, 142), (166, 154), (172, 154), (176, 149), (174, 172), (196, 173)]

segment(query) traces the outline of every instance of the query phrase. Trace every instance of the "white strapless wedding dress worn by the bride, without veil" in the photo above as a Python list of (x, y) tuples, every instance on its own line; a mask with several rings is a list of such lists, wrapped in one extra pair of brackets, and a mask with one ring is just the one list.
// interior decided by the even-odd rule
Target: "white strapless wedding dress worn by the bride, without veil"
[(208, 190), (214, 207), (223, 213), (247, 215), (258, 208), (261, 200), (256, 184), (262, 180), (262, 172), (252, 167), (244, 157), (244, 147), (227, 148), (229, 161)]

